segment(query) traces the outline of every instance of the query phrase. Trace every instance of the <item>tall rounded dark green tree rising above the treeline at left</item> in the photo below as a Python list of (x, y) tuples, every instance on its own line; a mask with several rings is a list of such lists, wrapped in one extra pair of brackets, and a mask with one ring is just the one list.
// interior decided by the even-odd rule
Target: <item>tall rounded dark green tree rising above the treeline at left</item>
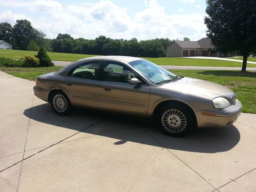
[(15, 48), (27, 50), (32, 33), (33, 27), (27, 19), (16, 20), (16, 24), (13, 26)]

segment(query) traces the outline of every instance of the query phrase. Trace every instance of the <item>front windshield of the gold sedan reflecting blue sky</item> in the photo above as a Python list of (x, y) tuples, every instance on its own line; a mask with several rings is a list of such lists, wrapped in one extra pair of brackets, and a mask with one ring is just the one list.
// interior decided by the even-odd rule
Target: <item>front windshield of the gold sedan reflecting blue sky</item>
[(129, 64), (155, 84), (172, 81), (177, 77), (175, 74), (170, 73), (148, 60), (136, 60), (129, 62)]

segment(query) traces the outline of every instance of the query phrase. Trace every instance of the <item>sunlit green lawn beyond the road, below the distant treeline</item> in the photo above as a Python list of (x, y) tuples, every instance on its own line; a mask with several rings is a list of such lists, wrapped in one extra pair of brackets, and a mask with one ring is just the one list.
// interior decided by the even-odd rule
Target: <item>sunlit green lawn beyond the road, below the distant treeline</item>
[[(92, 57), (97, 55), (84, 55), (84, 54), (73, 54), (73, 53), (55, 53), (47, 52), (52, 60), (58, 61), (76, 61), (81, 58)], [(26, 54), (36, 55), (36, 51), (22, 51), (22, 50), (0, 50), (0, 57), (18, 59), (24, 57)], [(159, 57), (159, 58), (148, 58), (158, 65), (172, 65), (172, 66), (210, 66), (210, 67), (241, 67), (242, 63), (235, 61), (215, 60), (215, 59), (194, 59), (194, 58), (182, 58), (182, 57)], [(247, 67), (256, 67), (254, 64), (247, 63)]]

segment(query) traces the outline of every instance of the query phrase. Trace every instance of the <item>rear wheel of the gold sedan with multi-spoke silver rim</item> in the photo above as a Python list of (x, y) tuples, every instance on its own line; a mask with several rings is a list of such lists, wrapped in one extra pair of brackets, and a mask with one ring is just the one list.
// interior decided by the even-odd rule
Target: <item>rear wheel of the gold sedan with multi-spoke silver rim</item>
[(51, 106), (53, 111), (57, 115), (66, 116), (69, 115), (72, 109), (72, 105), (68, 96), (62, 91), (55, 91), (51, 96)]

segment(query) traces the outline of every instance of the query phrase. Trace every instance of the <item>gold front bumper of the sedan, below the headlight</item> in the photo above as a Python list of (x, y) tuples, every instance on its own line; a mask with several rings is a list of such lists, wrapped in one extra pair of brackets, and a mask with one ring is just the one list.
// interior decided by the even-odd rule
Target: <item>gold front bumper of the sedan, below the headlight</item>
[[(242, 111), (242, 103), (237, 99), (236, 104), (222, 110), (194, 109), (198, 127), (224, 127), (236, 122)], [(202, 113), (215, 114), (215, 116), (203, 115)]]

